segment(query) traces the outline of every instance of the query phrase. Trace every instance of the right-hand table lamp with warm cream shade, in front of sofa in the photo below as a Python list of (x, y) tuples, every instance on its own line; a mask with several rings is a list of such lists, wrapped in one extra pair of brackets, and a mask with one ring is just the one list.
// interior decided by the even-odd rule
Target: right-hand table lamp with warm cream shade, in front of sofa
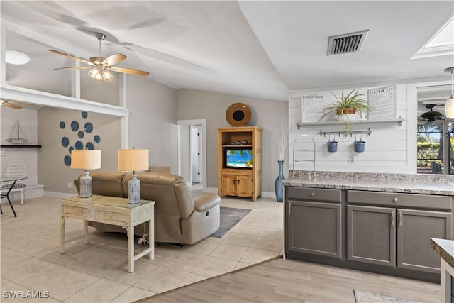
[(136, 170), (148, 170), (148, 150), (118, 150), (118, 170), (133, 171), (133, 177), (128, 181), (128, 203), (140, 203), (140, 180)]

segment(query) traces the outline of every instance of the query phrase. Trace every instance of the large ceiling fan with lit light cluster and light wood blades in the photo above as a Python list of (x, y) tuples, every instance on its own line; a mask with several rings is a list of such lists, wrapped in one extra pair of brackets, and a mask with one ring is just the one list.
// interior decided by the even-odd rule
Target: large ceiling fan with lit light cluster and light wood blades
[(52, 53), (57, 55), (62, 55), (65, 57), (69, 57), (72, 60), (77, 60), (83, 62), (89, 66), (80, 66), (80, 67), (59, 67), (55, 68), (54, 70), (87, 70), (91, 69), (88, 74), (90, 77), (95, 79), (97, 82), (102, 81), (109, 81), (114, 78), (111, 72), (123, 72), (126, 74), (132, 75), (140, 75), (140, 76), (148, 76), (150, 75), (149, 72), (144, 72), (143, 70), (133, 70), (132, 68), (124, 68), (124, 67), (114, 67), (112, 65), (116, 65), (117, 63), (126, 59), (126, 55), (122, 53), (116, 53), (114, 55), (110, 55), (109, 57), (102, 57), (101, 56), (101, 41), (106, 38), (104, 33), (96, 33), (96, 38), (99, 40), (99, 56), (97, 57), (90, 57), (89, 60), (84, 59), (82, 57), (75, 57), (73, 55), (62, 53), (58, 50), (49, 50)]

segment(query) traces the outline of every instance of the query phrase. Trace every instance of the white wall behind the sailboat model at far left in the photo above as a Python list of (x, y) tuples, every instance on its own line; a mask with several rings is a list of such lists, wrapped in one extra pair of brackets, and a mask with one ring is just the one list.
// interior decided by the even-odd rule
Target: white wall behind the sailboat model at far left
[[(38, 144), (38, 114), (33, 109), (11, 109), (6, 106), (0, 107), (0, 142), (2, 145), (11, 145), (7, 138), (16, 126), (19, 119), (21, 130), (28, 141), (24, 144)], [(21, 134), (22, 136), (22, 134)], [(6, 168), (13, 160), (22, 160), (27, 167), (28, 179), (23, 183), (27, 185), (38, 184), (38, 148), (1, 148), (0, 149), (1, 175), (6, 176)]]

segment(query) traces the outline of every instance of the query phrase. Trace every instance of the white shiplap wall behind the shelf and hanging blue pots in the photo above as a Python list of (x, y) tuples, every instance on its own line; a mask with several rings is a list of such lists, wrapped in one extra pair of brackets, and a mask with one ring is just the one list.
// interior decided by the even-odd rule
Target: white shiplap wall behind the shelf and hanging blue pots
[[(367, 95), (367, 89), (375, 87), (362, 87), (358, 88), (361, 94)], [(353, 88), (345, 88), (345, 92), (350, 92)], [(356, 89), (356, 88), (355, 88)], [(342, 90), (331, 90), (336, 96), (340, 96)], [(297, 122), (302, 121), (302, 100), (304, 94), (326, 94), (327, 92), (290, 92), (289, 99), (289, 169), (292, 170), (294, 165), (295, 170), (313, 170), (313, 163), (297, 163), (293, 162), (293, 153), (295, 160), (311, 160), (314, 158), (314, 153), (311, 151), (297, 151), (295, 149), (311, 148), (313, 145), (310, 138), (301, 137), (294, 143), (295, 138), (304, 133), (315, 141), (315, 169), (319, 171), (343, 171), (343, 172), (400, 172), (411, 173), (414, 167), (409, 157), (409, 136), (416, 136), (409, 134), (407, 123), (403, 121), (399, 126), (397, 122), (389, 123), (360, 123), (352, 124), (353, 131), (365, 131), (367, 128), (372, 130), (370, 136), (362, 135), (362, 141), (366, 142), (364, 153), (355, 153), (353, 150), (353, 141), (359, 141), (361, 136), (348, 135), (347, 137), (341, 135), (336, 136), (338, 141), (338, 151), (336, 153), (329, 153), (327, 150), (326, 142), (328, 136), (323, 137), (320, 131), (344, 131), (343, 124), (338, 125), (323, 125), (316, 124), (314, 126), (301, 126), (298, 130)], [(329, 92), (328, 92), (329, 94)], [(331, 95), (331, 94), (329, 94)], [(332, 95), (331, 95), (332, 96)], [(333, 101), (336, 101), (332, 97)], [(406, 84), (397, 84), (397, 117), (404, 119), (408, 116), (407, 106), (407, 86)], [(331, 141), (333, 140), (331, 136)], [(306, 142), (306, 143), (304, 143)], [(353, 162), (350, 161), (353, 156)]]

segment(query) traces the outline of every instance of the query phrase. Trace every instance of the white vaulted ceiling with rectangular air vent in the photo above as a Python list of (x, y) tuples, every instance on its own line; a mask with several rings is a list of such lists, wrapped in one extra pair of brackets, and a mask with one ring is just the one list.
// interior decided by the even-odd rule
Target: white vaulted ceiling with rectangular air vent
[[(289, 89), (450, 77), (454, 56), (411, 57), (454, 14), (454, 1), (0, 1), (6, 49), (31, 62), (6, 66), (6, 83), (70, 94), (71, 72), (98, 54), (175, 88), (287, 100)], [(327, 56), (328, 36), (370, 30), (358, 53)], [(28, 32), (33, 31), (33, 32)], [(28, 36), (28, 37), (25, 37)], [(84, 71), (82, 75), (85, 76)], [(131, 76), (140, 77), (140, 76)], [(87, 79), (86, 82), (89, 82)]]

